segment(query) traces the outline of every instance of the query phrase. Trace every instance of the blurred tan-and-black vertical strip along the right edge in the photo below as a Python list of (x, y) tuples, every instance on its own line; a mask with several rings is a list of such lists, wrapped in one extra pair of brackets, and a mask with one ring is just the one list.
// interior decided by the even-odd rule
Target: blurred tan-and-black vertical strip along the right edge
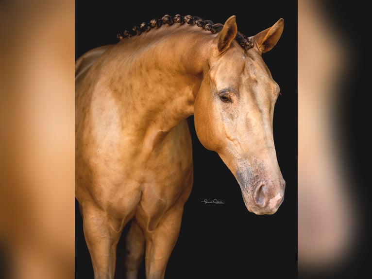
[[(366, 132), (370, 125), (366, 99), (371, 60), (366, 43), (368, 9), (361, 1), (298, 3), (299, 278), (364, 277), (370, 274), (367, 255), (372, 248), (368, 201), (371, 141)], [(316, 124), (314, 130), (312, 123)], [(321, 143), (319, 150), (312, 149), (314, 134), (304, 137), (309, 131), (321, 131), (319, 137), (324, 145)], [(302, 140), (308, 140), (310, 145), (304, 146)], [(329, 148), (321, 150), (323, 147)], [(319, 166), (330, 166), (332, 171), (320, 178), (316, 177), (322, 170), (304, 176), (304, 170), (314, 168), (311, 153), (318, 151), (322, 151)], [(328, 152), (332, 156), (330, 165), (324, 163)], [(310, 157), (303, 159), (304, 154)], [(311, 190), (304, 197), (306, 188)], [(315, 198), (307, 211), (315, 212), (315, 220), (309, 218), (311, 226), (300, 231), (302, 211), (306, 211), (302, 205), (306, 198), (310, 199), (309, 193)], [(324, 216), (333, 218), (321, 224), (317, 219), (326, 220)]]

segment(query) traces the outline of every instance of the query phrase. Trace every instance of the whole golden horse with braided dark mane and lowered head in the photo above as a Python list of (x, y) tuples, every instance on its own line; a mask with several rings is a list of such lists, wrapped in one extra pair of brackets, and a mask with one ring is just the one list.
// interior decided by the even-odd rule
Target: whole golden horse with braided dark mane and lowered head
[(246, 37), (235, 16), (222, 25), (166, 15), (76, 61), (75, 195), (95, 279), (114, 277), (126, 224), (127, 278), (144, 254), (146, 278), (164, 278), (193, 183), (191, 115), (247, 209), (277, 211), (285, 189), (272, 132), (280, 90), (261, 54), (283, 22)]

